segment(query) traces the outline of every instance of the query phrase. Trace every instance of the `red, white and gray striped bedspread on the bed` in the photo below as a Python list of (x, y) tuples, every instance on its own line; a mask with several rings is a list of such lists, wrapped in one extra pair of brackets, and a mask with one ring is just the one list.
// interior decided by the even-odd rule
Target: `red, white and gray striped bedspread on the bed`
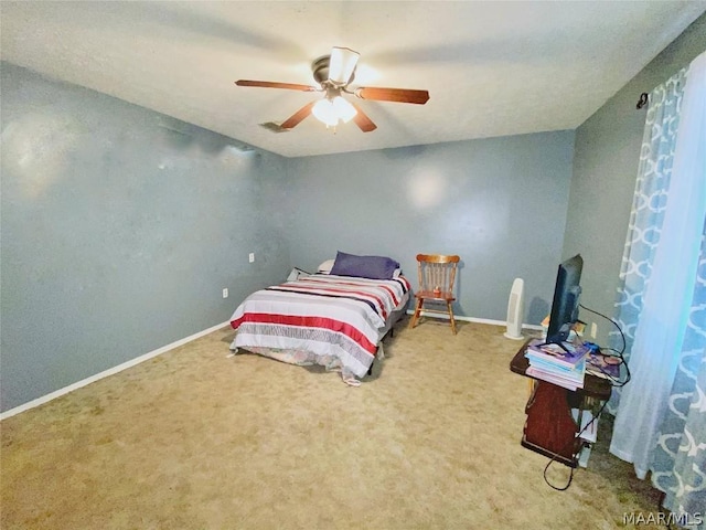
[(400, 276), (381, 280), (314, 274), (248, 296), (231, 317), (234, 344), (333, 356), (359, 378), (375, 359), (379, 329), (409, 290)]

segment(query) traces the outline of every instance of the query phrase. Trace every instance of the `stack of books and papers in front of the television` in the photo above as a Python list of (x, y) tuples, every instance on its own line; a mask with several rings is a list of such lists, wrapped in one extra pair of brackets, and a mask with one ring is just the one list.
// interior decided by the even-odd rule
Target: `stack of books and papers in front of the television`
[(530, 361), (526, 374), (568, 390), (582, 389), (589, 348), (570, 342), (563, 344), (564, 348), (546, 344), (543, 339), (530, 341), (525, 351)]

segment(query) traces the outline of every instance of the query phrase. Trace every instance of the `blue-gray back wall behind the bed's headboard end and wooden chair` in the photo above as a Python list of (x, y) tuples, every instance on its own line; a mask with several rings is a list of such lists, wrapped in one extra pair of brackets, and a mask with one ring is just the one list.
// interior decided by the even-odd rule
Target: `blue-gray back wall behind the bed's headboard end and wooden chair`
[(292, 262), (336, 251), (402, 263), (459, 254), (459, 315), (505, 320), (515, 277), (526, 322), (548, 312), (561, 255), (574, 132), (558, 131), (293, 159)]

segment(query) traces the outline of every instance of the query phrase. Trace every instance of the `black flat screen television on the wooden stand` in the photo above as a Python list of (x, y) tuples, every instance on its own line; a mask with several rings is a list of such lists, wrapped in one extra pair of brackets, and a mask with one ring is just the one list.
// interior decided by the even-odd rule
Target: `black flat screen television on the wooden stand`
[(581, 294), (581, 271), (584, 258), (580, 254), (559, 264), (554, 285), (552, 312), (547, 329), (547, 343), (559, 344), (566, 341), (571, 326), (578, 320), (578, 299)]

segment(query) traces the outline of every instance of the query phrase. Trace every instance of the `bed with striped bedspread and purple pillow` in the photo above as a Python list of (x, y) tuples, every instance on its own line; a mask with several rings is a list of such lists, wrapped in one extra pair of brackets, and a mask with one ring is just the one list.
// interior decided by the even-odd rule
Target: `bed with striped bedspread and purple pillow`
[(339, 252), (317, 274), (248, 296), (231, 317), (231, 350), (320, 364), (359, 385), (384, 357), (382, 340), (404, 316), (409, 287), (397, 262)]

